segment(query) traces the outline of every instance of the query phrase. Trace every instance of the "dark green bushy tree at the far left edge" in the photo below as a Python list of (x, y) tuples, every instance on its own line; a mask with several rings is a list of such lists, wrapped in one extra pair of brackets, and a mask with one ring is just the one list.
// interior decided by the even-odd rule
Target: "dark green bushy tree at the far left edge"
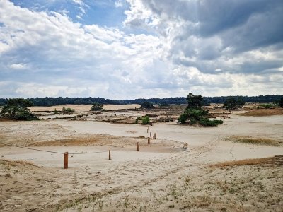
[(30, 113), (28, 107), (33, 106), (33, 102), (23, 98), (9, 99), (1, 111), (1, 117), (15, 120), (37, 120), (35, 114)]

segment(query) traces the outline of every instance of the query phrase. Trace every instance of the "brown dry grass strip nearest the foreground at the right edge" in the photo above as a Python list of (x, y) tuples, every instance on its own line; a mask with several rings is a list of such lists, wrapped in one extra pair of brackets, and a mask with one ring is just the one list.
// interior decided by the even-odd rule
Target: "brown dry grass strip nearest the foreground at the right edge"
[(274, 164), (283, 165), (283, 155), (278, 155), (270, 158), (227, 161), (223, 163), (216, 163), (214, 165), (209, 165), (209, 167), (231, 167), (231, 166), (240, 166), (240, 165), (274, 165)]

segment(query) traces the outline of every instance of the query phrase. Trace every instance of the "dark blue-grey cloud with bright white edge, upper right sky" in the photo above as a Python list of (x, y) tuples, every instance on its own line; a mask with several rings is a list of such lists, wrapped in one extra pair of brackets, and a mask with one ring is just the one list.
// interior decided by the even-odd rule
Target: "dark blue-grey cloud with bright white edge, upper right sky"
[[(128, 2), (125, 25), (154, 28), (170, 43), (168, 56), (176, 65), (195, 66), (203, 73), (215, 69), (260, 73), (283, 66), (277, 56), (282, 54), (283, 44), (282, 1)], [(254, 52), (274, 57), (257, 61)], [(236, 61), (237, 68), (231, 61)]]

